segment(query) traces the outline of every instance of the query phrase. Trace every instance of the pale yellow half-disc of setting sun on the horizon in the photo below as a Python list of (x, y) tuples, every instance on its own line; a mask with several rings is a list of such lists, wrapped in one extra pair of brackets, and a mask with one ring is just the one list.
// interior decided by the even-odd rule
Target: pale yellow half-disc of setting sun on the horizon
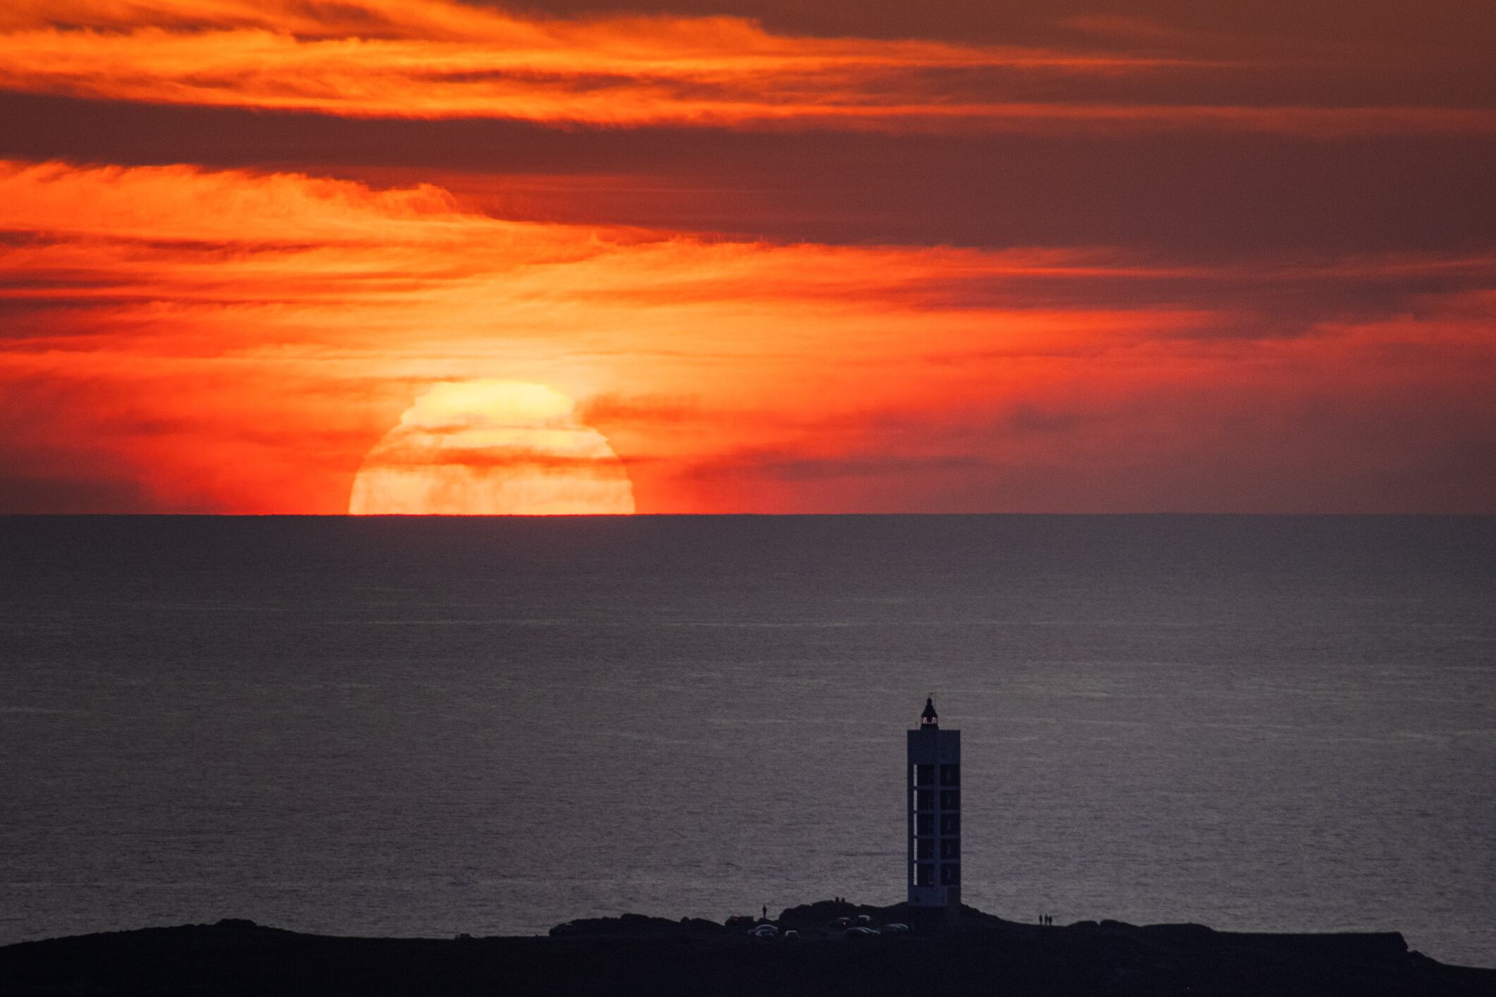
[(353, 480), (355, 516), (576, 516), (634, 511), (600, 432), (543, 384), (459, 381), (416, 399)]

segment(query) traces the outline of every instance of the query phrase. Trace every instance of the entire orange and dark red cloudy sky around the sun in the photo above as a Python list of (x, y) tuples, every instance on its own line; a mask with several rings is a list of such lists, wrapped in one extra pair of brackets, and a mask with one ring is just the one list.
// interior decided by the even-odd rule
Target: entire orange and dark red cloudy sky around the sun
[(1070, 7), (7, 4), (0, 511), (343, 513), (464, 381), (640, 513), (1496, 511), (1490, 21)]

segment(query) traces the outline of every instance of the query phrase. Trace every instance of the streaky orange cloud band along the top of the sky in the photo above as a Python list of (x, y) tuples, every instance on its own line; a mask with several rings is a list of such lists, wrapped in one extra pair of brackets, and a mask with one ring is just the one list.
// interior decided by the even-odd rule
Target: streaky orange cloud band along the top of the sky
[(536, 19), (449, 0), (25, 0), (0, 13), (0, 88), (166, 105), (627, 127), (1496, 132), (1489, 108), (1112, 93), (1141, 76), (1188, 94), (1245, 69), (1094, 46), (791, 37), (726, 16)]

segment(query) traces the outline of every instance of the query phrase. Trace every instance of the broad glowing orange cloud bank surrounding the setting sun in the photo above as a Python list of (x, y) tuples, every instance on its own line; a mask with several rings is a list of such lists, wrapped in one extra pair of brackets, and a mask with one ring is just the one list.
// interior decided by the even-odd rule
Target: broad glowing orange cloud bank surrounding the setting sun
[[(1490, 256), (732, 242), (431, 187), (0, 163), (0, 277), (12, 508), (341, 513), (419, 395), (483, 380), (576, 399), (640, 511), (1496, 493)], [(1331, 303), (1285, 318), (1287, 291)]]

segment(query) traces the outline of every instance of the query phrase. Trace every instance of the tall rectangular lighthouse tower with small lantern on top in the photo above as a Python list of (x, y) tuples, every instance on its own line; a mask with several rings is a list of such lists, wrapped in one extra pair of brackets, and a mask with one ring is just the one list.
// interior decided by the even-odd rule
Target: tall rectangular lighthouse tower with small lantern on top
[(934, 697), (908, 731), (910, 906), (960, 909), (960, 731), (939, 729)]

